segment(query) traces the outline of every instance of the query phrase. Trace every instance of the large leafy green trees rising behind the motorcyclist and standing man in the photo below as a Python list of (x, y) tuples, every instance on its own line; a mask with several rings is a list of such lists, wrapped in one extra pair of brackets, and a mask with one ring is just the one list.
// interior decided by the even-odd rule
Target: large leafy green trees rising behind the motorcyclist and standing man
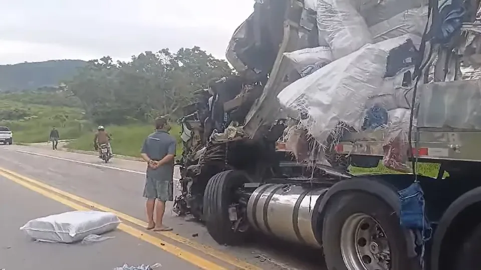
[(187, 105), (193, 91), (212, 78), (232, 74), (225, 60), (199, 47), (145, 51), (128, 62), (110, 56), (91, 60), (66, 88), (78, 97), (87, 116), (97, 123), (147, 120)]

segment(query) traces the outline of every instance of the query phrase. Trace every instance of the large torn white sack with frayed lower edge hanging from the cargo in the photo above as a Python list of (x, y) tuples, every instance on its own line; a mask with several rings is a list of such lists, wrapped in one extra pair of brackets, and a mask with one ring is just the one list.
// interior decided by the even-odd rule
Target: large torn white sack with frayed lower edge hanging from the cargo
[(298, 111), (298, 119), (304, 114), (302, 125), (321, 144), (341, 121), (361, 130), (368, 98), (385, 91), (389, 52), (408, 40), (403, 35), (367, 44), (288, 85), (279, 93), (279, 101)]

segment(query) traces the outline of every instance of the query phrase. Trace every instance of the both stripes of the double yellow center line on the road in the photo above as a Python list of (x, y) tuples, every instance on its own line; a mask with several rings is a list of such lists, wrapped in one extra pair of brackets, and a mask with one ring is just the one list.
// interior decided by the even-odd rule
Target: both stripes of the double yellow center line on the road
[[(54, 199), (62, 204), (65, 204), (67, 206), (70, 206), (76, 210), (91, 210), (91, 208), (96, 208), (101, 211), (107, 211), (107, 212), (112, 212), (115, 213), (119, 218), (131, 222), (133, 224), (145, 227), (147, 226), (147, 223), (137, 219), (135, 217), (132, 217), (130, 215), (127, 215), (125, 213), (116, 211), (114, 209), (111, 209), (109, 207), (103, 206), (101, 204), (95, 203), (93, 201), (87, 200), (85, 198), (79, 197), (77, 195), (71, 194), (69, 192), (60, 190), (58, 188), (55, 188), (53, 186), (50, 186), (48, 184), (45, 184), (43, 182), (31, 179), (29, 177), (23, 176), (21, 174), (18, 174), (14, 171), (4, 169), (0, 167), (0, 175), (24, 186), (27, 187), (37, 193), (40, 193), (46, 197), (49, 197), (51, 199)], [(76, 201), (76, 202), (74, 202)], [(78, 203), (77, 203), (78, 202)], [(83, 206), (79, 203), (85, 204), (90, 206), (91, 208), (88, 208), (86, 206)], [(120, 224), (118, 227), (120, 230), (127, 232), (128, 234), (135, 236), (139, 239), (142, 239), (144, 241), (147, 241), (171, 254), (174, 254), (175, 256), (182, 258), (184, 260), (189, 261), (190, 263), (202, 268), (202, 269), (208, 269), (208, 270), (223, 270), (226, 269), (218, 264), (215, 264), (203, 257), (200, 257), (198, 255), (193, 254), (192, 252), (186, 251), (180, 247), (177, 247), (173, 244), (167, 243), (165, 241), (162, 241), (160, 238), (157, 238), (153, 235), (150, 235), (148, 233), (145, 233), (139, 229), (136, 229), (132, 226), (126, 225), (124, 223)], [(262, 268), (255, 266), (253, 264), (247, 263), (245, 261), (242, 261), (238, 258), (235, 258), (231, 255), (225, 254), (223, 252), (220, 252), (210, 246), (206, 246), (194, 241), (191, 241), (187, 238), (184, 238), (182, 236), (179, 236), (175, 233), (169, 232), (169, 231), (164, 231), (161, 232), (161, 234), (165, 237), (168, 237), (172, 240), (175, 240), (177, 242), (180, 242), (184, 245), (187, 245), (191, 248), (194, 248), (198, 251), (201, 251), (202, 253), (206, 255), (210, 255), (212, 257), (215, 257), (218, 260), (221, 260), (223, 262), (226, 262), (232, 266), (235, 266), (240, 269), (246, 269), (246, 270), (262, 270)]]

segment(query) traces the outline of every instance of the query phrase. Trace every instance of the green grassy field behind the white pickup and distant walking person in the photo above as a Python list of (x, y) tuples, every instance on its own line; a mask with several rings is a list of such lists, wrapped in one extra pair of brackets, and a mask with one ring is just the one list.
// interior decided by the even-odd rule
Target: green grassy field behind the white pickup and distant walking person
[(47, 141), (54, 125), (59, 129), (62, 139), (77, 138), (91, 128), (80, 108), (32, 104), (20, 100), (17, 95), (0, 94), (0, 125), (12, 130), (15, 142)]

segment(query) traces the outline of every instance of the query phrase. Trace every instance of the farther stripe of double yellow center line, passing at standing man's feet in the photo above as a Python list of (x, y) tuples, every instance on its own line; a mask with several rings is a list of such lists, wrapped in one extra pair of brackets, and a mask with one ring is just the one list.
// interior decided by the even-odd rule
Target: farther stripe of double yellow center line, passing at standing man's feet
[[(5, 169), (5, 168), (2, 168), (0, 167), (0, 172), (1, 171), (4, 171), (5, 173), (8, 173), (8, 174), (11, 174), (11, 175), (14, 175), (24, 181), (28, 181), (28, 182), (31, 182), (33, 184), (36, 184), (38, 186), (41, 186), (42, 188), (45, 188), (45, 189), (48, 189), (52, 192), (55, 192), (55, 193), (58, 193), (60, 195), (63, 195), (65, 197), (68, 197), (70, 199), (73, 199), (77, 202), (80, 202), (80, 203), (83, 203), (83, 204), (86, 204), (86, 205), (90, 205), (94, 208), (97, 208), (99, 210), (102, 210), (102, 211), (105, 211), (105, 212), (111, 212), (111, 213), (114, 213), (116, 214), (119, 218), (123, 219), (123, 220), (126, 220), (126, 221), (129, 221), (133, 224), (136, 224), (136, 225), (139, 225), (139, 226), (142, 226), (142, 227), (146, 227), (147, 226), (147, 222), (143, 221), (143, 220), (140, 220), (138, 218), (135, 218), (135, 217), (132, 217), (130, 215), (127, 215), (125, 213), (122, 213), (122, 212), (119, 212), (117, 210), (114, 210), (114, 209), (111, 209), (109, 207), (106, 207), (104, 205), (101, 205), (101, 204), (98, 204), (96, 202), (93, 202), (93, 201), (90, 201), (88, 199), (85, 199), (85, 198), (82, 198), (82, 197), (79, 197), (77, 195), (74, 195), (72, 193), (69, 193), (69, 192), (66, 192), (64, 190), (61, 190), (61, 189), (58, 189), (58, 188), (55, 188), (53, 186), (50, 186), (48, 184), (45, 184), (43, 182), (40, 182), (40, 181), (37, 181), (37, 180), (34, 180), (34, 179), (31, 179), (27, 176), (23, 176), (21, 174), (18, 174), (14, 171), (11, 171), (11, 170), (8, 170), (8, 169)], [(201, 251), (202, 253), (204, 254), (207, 254), (207, 255), (210, 255), (210, 256), (213, 256), (219, 260), (222, 260), (228, 264), (231, 264), (233, 266), (236, 266), (240, 269), (245, 269), (245, 270), (262, 270), (261, 267), (258, 267), (256, 265), (253, 265), (253, 264), (250, 264), (246, 261), (243, 261), (243, 260), (240, 260), (239, 258), (236, 258), (232, 255), (229, 255), (229, 254), (226, 254), (224, 252), (221, 252), (219, 250), (216, 250), (210, 246), (207, 246), (207, 245), (204, 245), (204, 244), (201, 244), (201, 243), (198, 243), (198, 242), (195, 242), (195, 241), (192, 241), (188, 238), (185, 238), (185, 237), (182, 237), (180, 235), (177, 235), (173, 232), (170, 232), (170, 231), (161, 231), (160, 232), (163, 236), (165, 237), (168, 237), (172, 240), (175, 240), (177, 242), (180, 242), (182, 244), (185, 244), (189, 247), (192, 247), (196, 250), (199, 250)], [(214, 268), (212, 268), (214, 269)]]

